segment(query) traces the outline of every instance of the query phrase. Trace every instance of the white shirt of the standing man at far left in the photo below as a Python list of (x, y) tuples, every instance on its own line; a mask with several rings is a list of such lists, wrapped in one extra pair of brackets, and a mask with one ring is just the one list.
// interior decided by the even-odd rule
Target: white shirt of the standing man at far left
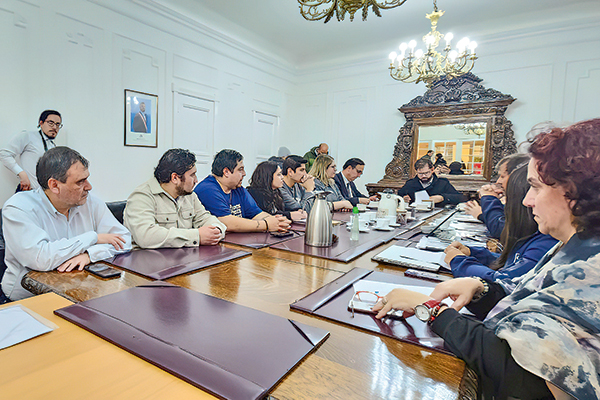
[[(42, 137), (44, 141), (42, 141)], [(31, 182), (31, 189), (37, 189), (40, 186), (35, 176), (35, 167), (40, 157), (44, 155), (44, 142), (46, 142), (48, 150), (56, 147), (54, 140), (44, 134), (40, 135), (39, 130), (23, 131), (0, 150), (2, 164), (15, 175), (25, 171)], [(17, 158), (19, 158), (19, 162), (17, 162)]]

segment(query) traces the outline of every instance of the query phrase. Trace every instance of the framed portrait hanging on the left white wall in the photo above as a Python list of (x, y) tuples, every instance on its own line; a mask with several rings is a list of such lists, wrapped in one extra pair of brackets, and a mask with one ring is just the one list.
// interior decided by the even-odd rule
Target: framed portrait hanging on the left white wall
[(158, 147), (158, 96), (125, 89), (125, 146)]

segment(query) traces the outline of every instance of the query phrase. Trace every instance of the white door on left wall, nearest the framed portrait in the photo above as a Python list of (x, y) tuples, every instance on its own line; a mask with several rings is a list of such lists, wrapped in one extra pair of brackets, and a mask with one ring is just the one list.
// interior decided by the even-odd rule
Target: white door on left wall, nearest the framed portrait
[(173, 93), (173, 147), (196, 154), (198, 180), (210, 174), (214, 155), (215, 102)]

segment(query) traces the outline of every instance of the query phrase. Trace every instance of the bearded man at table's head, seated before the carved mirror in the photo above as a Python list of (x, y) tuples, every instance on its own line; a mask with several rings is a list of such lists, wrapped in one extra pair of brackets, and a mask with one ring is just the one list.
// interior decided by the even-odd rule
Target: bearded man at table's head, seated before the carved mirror
[(433, 172), (433, 163), (431, 160), (419, 159), (415, 163), (417, 175), (406, 181), (404, 186), (398, 190), (400, 196), (404, 196), (407, 202), (415, 201), (415, 193), (425, 190), (429, 198), (433, 200), (436, 206), (446, 204), (458, 204), (465, 200), (464, 196), (452, 186), (446, 178), (438, 178)]

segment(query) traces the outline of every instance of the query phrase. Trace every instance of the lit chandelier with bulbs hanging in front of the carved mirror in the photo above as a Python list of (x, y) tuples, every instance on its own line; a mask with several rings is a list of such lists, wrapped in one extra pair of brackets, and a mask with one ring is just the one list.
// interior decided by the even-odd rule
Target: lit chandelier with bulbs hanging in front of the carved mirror
[[(437, 2), (434, 0), (433, 12), (425, 15), (431, 21), (431, 32), (423, 36), (427, 49), (425, 52), (421, 49), (415, 50), (417, 42), (411, 40), (408, 44), (400, 45), (400, 54), (390, 53), (389, 69), (392, 78), (406, 83), (422, 81), (430, 88), (440, 76), (456, 78), (473, 69), (477, 59), (475, 55), (477, 43), (463, 38), (458, 41), (456, 49), (453, 50), (450, 42), (454, 35), (450, 32), (442, 35), (437, 31), (437, 22), (442, 15), (444, 11), (438, 10)], [(436, 49), (442, 39), (446, 41), (446, 46), (440, 54)]]

